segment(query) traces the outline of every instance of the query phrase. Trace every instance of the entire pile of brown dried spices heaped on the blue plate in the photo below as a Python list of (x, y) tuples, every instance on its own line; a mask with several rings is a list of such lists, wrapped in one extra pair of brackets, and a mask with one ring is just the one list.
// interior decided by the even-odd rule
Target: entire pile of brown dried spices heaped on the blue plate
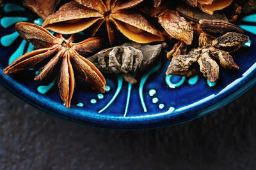
[[(58, 73), (66, 108), (75, 78), (100, 93), (106, 90), (102, 73), (122, 74), (136, 83), (134, 73), (152, 66), (163, 45), (172, 46), (166, 55), (171, 60), (166, 74), (202, 72), (209, 81), (218, 80), (218, 63), (239, 69), (230, 54), (249, 37), (236, 22), (256, 10), (254, 0), (24, 0), (23, 5), (44, 19), (42, 27), (28, 22), (15, 25), (37, 50), (12, 62), (4, 74), (40, 67), (35, 80), (45, 80)], [(75, 43), (81, 31), (87, 38)]]

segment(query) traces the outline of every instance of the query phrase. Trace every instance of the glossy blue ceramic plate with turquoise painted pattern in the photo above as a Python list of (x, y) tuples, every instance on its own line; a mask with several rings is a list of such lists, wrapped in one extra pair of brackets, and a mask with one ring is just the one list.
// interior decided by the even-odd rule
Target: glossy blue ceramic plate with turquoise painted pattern
[[(238, 71), (220, 69), (220, 79), (210, 83), (198, 74), (192, 78), (165, 76), (170, 61), (161, 53), (156, 64), (143, 74), (136, 75), (138, 83), (126, 83), (120, 75), (107, 76), (107, 92), (98, 94), (77, 83), (72, 106), (66, 109), (59, 97), (56, 81), (33, 81), (36, 70), (5, 76), (4, 67), (33, 50), (14, 31), (19, 21), (42, 24), (40, 18), (14, 4), (0, 8), (0, 82), (13, 94), (28, 103), (61, 118), (115, 129), (148, 129), (180, 124), (202, 117), (236, 97), (241, 96), (256, 82), (256, 26), (255, 15), (243, 18), (241, 27), (250, 41), (234, 53)], [(28, 18), (29, 16), (29, 18)], [(250, 22), (250, 23), (248, 23)], [(253, 32), (254, 31), (254, 32)], [(163, 50), (164, 51), (164, 50)]]

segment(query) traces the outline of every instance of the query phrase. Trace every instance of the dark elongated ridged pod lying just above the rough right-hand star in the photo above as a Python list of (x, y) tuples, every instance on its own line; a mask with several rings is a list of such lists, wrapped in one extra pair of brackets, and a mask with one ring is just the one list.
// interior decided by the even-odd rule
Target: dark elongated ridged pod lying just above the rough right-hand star
[(202, 30), (212, 36), (221, 36), (227, 32), (239, 32), (243, 33), (243, 29), (237, 27), (237, 25), (231, 24), (224, 20), (199, 20), (199, 24)]

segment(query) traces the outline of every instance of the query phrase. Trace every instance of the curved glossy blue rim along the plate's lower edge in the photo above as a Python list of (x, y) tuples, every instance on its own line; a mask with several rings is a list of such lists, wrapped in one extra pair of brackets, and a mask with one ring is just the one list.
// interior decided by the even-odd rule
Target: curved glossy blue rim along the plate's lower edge
[[(26, 101), (27, 103), (35, 106), (36, 108), (45, 111), (51, 115), (59, 118), (64, 118), (72, 122), (79, 124), (89, 125), (92, 127), (102, 127), (108, 129), (124, 129), (124, 130), (139, 130), (139, 129), (154, 129), (159, 127), (167, 127), (171, 125), (182, 124), (195, 118), (202, 117), (211, 113), (214, 110), (218, 110), (222, 106), (227, 105), (237, 97), (244, 94), (256, 83), (256, 62), (244, 72), (241, 78), (237, 78), (232, 81), (227, 87), (225, 87), (218, 94), (212, 94), (209, 97), (205, 97), (200, 101), (196, 101), (193, 104), (185, 106), (184, 109), (177, 109), (175, 111), (170, 110), (163, 113), (155, 113), (153, 115), (145, 115), (138, 117), (111, 117), (103, 114), (92, 114), (90, 111), (84, 111), (83, 115), (77, 113), (79, 110), (74, 110), (72, 113), (60, 113), (55, 105), (44, 106), (44, 102), (35, 102), (33, 97), (29, 96), (29, 90), (22, 90), (22, 85), (15, 83), (11, 76), (5, 76), (3, 72), (0, 73), (0, 83), (7, 90), (12, 92), (15, 96)], [(13, 82), (13, 83), (12, 83)], [(18, 92), (19, 91), (19, 92)], [(185, 113), (186, 114), (182, 114)]]

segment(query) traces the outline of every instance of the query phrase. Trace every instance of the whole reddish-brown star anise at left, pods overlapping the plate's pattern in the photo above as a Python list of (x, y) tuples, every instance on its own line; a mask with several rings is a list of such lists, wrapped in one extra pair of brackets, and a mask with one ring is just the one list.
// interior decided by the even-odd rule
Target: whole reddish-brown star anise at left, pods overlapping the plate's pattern
[(51, 57), (51, 60), (42, 68), (35, 80), (44, 80), (50, 76), (54, 67), (60, 63), (58, 87), (60, 97), (66, 108), (70, 108), (74, 92), (74, 71), (76, 71), (77, 78), (89, 83), (92, 89), (102, 93), (105, 92), (106, 80), (104, 76), (92, 62), (82, 57), (82, 55), (91, 54), (99, 49), (102, 46), (102, 38), (89, 38), (80, 43), (72, 43), (74, 36), (70, 36), (68, 39), (64, 39), (61, 34), (53, 36), (51, 32), (43, 27), (26, 22), (16, 24), (15, 30), (38, 50), (19, 57), (4, 69), (4, 74), (18, 73), (36, 67), (40, 62)]

